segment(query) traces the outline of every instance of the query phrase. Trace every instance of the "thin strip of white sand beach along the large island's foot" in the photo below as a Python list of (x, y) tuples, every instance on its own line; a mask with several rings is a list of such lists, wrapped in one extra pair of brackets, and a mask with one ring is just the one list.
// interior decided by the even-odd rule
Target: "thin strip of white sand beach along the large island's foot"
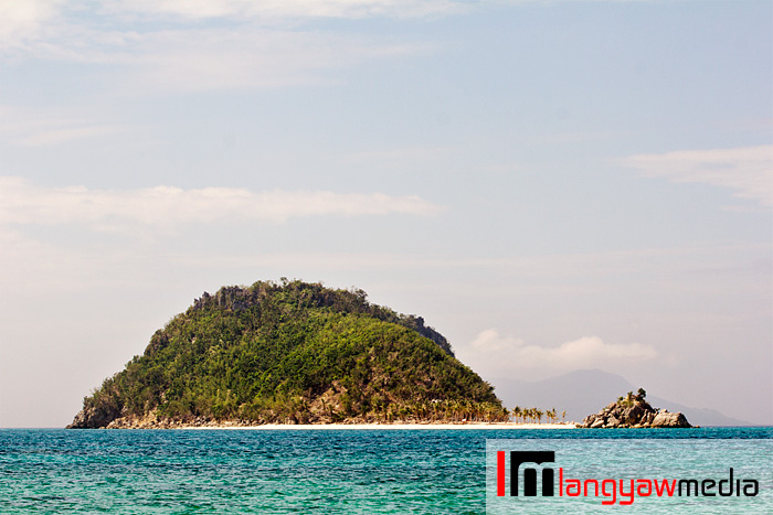
[(246, 429), (254, 431), (297, 430), (432, 430), (432, 429), (576, 429), (574, 422), (564, 423), (513, 423), (513, 422), (462, 422), (462, 423), (264, 423), (261, 426), (181, 426), (173, 429)]

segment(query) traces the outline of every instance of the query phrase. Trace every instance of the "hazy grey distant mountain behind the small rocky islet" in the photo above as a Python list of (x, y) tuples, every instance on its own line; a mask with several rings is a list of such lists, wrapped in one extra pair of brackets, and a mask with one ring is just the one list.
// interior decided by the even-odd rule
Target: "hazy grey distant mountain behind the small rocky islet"
[[(603, 371), (575, 371), (538, 382), (497, 378), (490, 383), (508, 409), (513, 406), (566, 410), (566, 420), (582, 421), (627, 391), (646, 385), (632, 385), (624, 377)], [(710, 408), (692, 408), (661, 397), (647, 395), (649, 404), (669, 411), (681, 411), (693, 426), (752, 426), (744, 420)]]

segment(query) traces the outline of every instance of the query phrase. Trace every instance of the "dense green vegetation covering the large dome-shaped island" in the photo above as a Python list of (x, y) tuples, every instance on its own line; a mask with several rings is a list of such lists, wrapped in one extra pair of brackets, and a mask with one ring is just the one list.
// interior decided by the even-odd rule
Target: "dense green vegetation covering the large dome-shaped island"
[(424, 320), (361, 290), (256, 282), (204, 293), (84, 399), (71, 427), (138, 420), (506, 420)]

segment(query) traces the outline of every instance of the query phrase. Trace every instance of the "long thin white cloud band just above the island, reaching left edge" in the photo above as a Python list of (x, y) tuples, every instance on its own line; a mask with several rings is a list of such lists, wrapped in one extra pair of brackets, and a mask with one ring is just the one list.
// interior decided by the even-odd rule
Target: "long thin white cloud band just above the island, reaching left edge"
[(442, 207), (417, 196), (324, 191), (251, 192), (233, 187), (182, 190), (88, 190), (84, 186), (41, 187), (19, 178), (0, 178), (0, 223), (85, 224), (116, 229), (127, 224), (172, 226), (187, 223), (285, 221), (339, 215), (434, 215)]

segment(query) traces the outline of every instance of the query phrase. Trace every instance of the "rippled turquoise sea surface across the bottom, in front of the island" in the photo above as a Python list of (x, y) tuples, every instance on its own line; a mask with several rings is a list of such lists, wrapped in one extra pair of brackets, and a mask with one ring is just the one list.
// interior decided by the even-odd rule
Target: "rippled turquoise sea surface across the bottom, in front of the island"
[[(721, 480), (730, 464), (737, 478), (759, 482), (753, 497), (652, 498), (627, 506), (544, 497), (534, 500), (539, 513), (773, 513), (773, 428), (702, 428), (3, 429), (0, 514), (486, 514), (496, 495), (486, 453), (494, 439), (526, 448), (543, 441), (566, 457), (562, 466), (591, 476), (656, 470)], [(631, 449), (623, 459), (621, 446)], [(611, 448), (616, 453), (606, 455)], [(579, 468), (589, 457), (595, 472)], [(489, 506), (488, 513), (537, 506), (523, 503), (523, 509)]]

